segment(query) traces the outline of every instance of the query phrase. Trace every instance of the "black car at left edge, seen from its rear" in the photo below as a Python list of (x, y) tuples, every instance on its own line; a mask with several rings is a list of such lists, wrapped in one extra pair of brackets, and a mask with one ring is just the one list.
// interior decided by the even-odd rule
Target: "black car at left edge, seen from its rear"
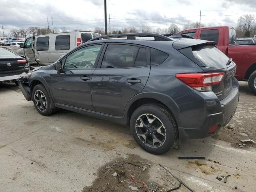
[[(27, 73), (29, 65), (26, 60), (8, 49), (0, 48), (0, 82), (15, 82), (22, 73)], [(24, 75), (24, 74), (23, 74)]]

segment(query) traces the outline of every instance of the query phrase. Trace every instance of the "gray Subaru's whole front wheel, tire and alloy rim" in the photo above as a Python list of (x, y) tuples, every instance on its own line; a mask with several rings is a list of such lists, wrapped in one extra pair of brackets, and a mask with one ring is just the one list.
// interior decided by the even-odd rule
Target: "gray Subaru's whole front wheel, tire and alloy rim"
[(48, 92), (42, 84), (38, 84), (33, 88), (32, 100), (36, 110), (44, 116), (48, 116), (56, 110), (56, 108), (51, 105)]

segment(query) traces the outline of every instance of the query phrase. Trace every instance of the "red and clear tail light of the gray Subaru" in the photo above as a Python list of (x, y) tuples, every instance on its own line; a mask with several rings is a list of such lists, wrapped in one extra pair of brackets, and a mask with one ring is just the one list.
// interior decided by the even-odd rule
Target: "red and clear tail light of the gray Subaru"
[(176, 78), (198, 91), (211, 91), (212, 85), (222, 82), (225, 73), (184, 73)]

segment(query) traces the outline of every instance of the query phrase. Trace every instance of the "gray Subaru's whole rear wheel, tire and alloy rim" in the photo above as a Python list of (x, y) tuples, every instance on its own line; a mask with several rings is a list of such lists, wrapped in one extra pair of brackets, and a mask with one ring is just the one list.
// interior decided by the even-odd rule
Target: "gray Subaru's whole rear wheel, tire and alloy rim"
[(145, 104), (131, 116), (130, 128), (138, 145), (152, 154), (164, 154), (176, 144), (174, 117), (162, 105)]

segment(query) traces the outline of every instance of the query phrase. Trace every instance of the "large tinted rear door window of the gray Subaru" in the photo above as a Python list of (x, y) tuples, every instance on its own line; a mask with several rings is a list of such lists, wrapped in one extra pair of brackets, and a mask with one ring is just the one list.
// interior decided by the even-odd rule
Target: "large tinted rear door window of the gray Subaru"
[(101, 68), (133, 67), (137, 52), (137, 46), (109, 44), (104, 54)]

